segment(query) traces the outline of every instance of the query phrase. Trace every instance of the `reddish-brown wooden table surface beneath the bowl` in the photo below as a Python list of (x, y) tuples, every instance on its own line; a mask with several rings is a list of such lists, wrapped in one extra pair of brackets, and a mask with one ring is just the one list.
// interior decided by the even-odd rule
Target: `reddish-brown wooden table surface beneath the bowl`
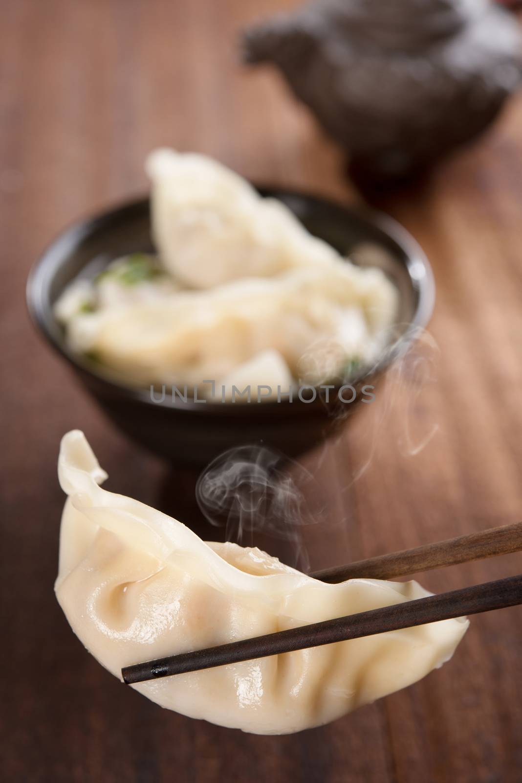
[[(216, 532), (198, 523), (194, 477), (127, 442), (35, 333), (30, 265), (67, 222), (143, 192), (145, 155), (160, 145), (209, 153), (259, 181), (360, 197), (277, 74), (238, 63), (241, 27), (291, 2), (0, 5), (2, 779), (521, 781), (520, 609), (474, 618), (452, 662), (413, 687), (284, 737), (163, 711), (71, 633), (52, 590), (67, 430), (88, 435), (109, 489)], [(424, 247), (437, 303), (374, 405), (303, 460), (324, 507), (305, 531), (313, 568), (522, 518), (522, 98), (429, 182), (379, 205)], [(454, 589), (520, 572), (521, 561), (421, 581)]]

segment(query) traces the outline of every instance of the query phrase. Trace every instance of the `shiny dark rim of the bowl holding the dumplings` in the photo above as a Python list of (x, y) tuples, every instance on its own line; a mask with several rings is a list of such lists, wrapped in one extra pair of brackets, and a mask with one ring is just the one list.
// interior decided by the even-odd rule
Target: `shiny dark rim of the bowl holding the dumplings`
[[(309, 203), (315, 202), (323, 208), (326, 207), (327, 209), (351, 213), (359, 220), (373, 224), (378, 230), (387, 235), (388, 239), (391, 239), (392, 243), (402, 251), (410, 283), (412, 283), (413, 288), (417, 291), (417, 307), (408, 324), (410, 334), (406, 333), (401, 337), (399, 340), (400, 347), (399, 345), (395, 345), (395, 348), (392, 347), (384, 352), (383, 357), (372, 368), (370, 375), (363, 373), (362, 376), (353, 378), (350, 383), (353, 386), (356, 386), (364, 377), (374, 377), (376, 374), (388, 369), (388, 366), (393, 363), (396, 356), (407, 350), (413, 343), (415, 340), (414, 331), (417, 329), (424, 329), (427, 326), (434, 309), (434, 275), (431, 265), (427, 260), (427, 256), (417, 243), (417, 240), (413, 239), (413, 236), (411, 236), (395, 218), (374, 209), (374, 207), (369, 207), (366, 204), (343, 204), (341, 201), (323, 197), (320, 194), (285, 188), (282, 186), (271, 186), (266, 183), (252, 183), (252, 185), (263, 196), (274, 198), (295, 197), (300, 200), (306, 200)], [(123, 396), (123, 398), (129, 401), (138, 402), (138, 404), (141, 403), (149, 407), (152, 406), (152, 408), (156, 409), (170, 409), (178, 412), (184, 410), (186, 412), (190, 411), (191, 413), (197, 411), (203, 415), (209, 415), (211, 413), (213, 415), (224, 414), (227, 417), (230, 417), (231, 415), (244, 415), (245, 412), (252, 413), (252, 408), (253, 410), (256, 410), (256, 412), (259, 411), (259, 413), (263, 412), (272, 416), (276, 410), (280, 412), (286, 410), (288, 413), (288, 406), (292, 406), (293, 408), (301, 407), (295, 406), (294, 403), (291, 403), (288, 399), (281, 400), (281, 402), (277, 402), (276, 400), (263, 400), (262, 402), (250, 402), (242, 405), (232, 402), (213, 401), (209, 401), (209, 405), (202, 405), (201, 400), (195, 402), (190, 399), (180, 405), (172, 399), (169, 399), (170, 395), (165, 395), (165, 399), (162, 401), (152, 400), (150, 387), (140, 388), (130, 385), (127, 386), (123, 382), (120, 383), (102, 373), (96, 373), (92, 370), (88, 361), (75, 355), (67, 347), (65, 340), (60, 341), (55, 337), (55, 334), (49, 330), (46, 291), (48, 290), (48, 284), (53, 279), (56, 270), (59, 269), (59, 266), (63, 262), (63, 259), (59, 258), (59, 255), (57, 255), (60, 252), (61, 246), (66, 245), (66, 247), (70, 247), (71, 244), (80, 244), (80, 241), (88, 236), (92, 236), (108, 223), (112, 223), (115, 219), (124, 218), (127, 213), (141, 211), (148, 204), (150, 204), (149, 193), (145, 194), (145, 196), (142, 195), (141, 197), (120, 200), (116, 202), (116, 204), (105, 207), (102, 210), (92, 212), (84, 217), (80, 216), (79, 218), (76, 218), (61, 229), (59, 233), (55, 234), (53, 239), (48, 242), (38, 259), (31, 266), (29, 275), (27, 276), (27, 309), (30, 319), (37, 330), (41, 332), (55, 352), (58, 352), (63, 359), (66, 359), (67, 363), (73, 366), (74, 370), (83, 373), (87, 377), (93, 379), (96, 383), (101, 384), (105, 393), (113, 397), (121, 398)], [(170, 387), (172, 384), (163, 385)], [(341, 385), (342, 384), (334, 385), (334, 393), (337, 393), (338, 389), (341, 388)], [(306, 384), (302, 384), (301, 388), (312, 387), (307, 387)], [(319, 395), (317, 395), (313, 402), (307, 403), (307, 408), (312, 408), (314, 403), (319, 403), (321, 407), (324, 407), (324, 402), (320, 400)]]

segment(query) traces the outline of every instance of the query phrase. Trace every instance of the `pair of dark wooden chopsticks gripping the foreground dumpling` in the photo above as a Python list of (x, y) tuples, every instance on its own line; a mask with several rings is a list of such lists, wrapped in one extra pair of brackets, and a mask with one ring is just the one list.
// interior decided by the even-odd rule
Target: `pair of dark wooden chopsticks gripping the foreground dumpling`
[[(311, 574), (323, 582), (336, 583), (345, 579), (391, 579), (394, 576), (430, 571), (448, 565), (481, 560), (522, 550), (522, 522), (514, 525), (471, 533), (454, 539), (427, 544), (381, 557), (370, 557), (340, 568), (329, 568)], [(170, 677), (173, 674), (211, 669), (250, 659), (265, 658), (305, 648), (359, 639), (375, 633), (422, 626), (463, 615), (475, 615), (522, 604), (522, 574), (485, 582), (462, 590), (417, 598), (370, 612), (336, 617), (324, 622), (292, 628), (265, 636), (254, 637), (218, 647), (170, 655), (168, 658), (145, 661), (121, 670), (123, 682), (130, 685)]]

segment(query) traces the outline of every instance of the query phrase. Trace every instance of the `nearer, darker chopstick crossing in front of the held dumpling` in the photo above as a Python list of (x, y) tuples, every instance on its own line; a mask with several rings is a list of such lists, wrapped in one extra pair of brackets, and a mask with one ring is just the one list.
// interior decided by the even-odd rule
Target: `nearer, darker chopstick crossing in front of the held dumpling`
[(280, 655), (322, 644), (359, 639), (374, 633), (422, 626), (427, 622), (438, 622), (463, 615), (491, 612), (508, 606), (522, 604), (522, 574), (509, 576), (495, 582), (486, 582), (462, 590), (417, 598), (403, 604), (393, 604), (370, 612), (336, 617), (324, 622), (314, 622), (266, 636), (221, 644), (205, 650), (170, 655), (154, 661), (125, 666), (121, 670), (123, 682), (127, 685), (173, 674), (194, 672), (198, 669), (212, 669), (250, 659)]

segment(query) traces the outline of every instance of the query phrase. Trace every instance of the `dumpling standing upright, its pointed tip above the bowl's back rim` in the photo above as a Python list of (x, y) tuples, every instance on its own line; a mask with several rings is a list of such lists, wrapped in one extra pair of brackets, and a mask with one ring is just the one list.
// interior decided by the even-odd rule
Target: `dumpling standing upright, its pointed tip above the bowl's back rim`
[(338, 258), (281, 201), (260, 197), (209, 157), (156, 150), (146, 168), (154, 242), (166, 269), (187, 286), (210, 288)]

